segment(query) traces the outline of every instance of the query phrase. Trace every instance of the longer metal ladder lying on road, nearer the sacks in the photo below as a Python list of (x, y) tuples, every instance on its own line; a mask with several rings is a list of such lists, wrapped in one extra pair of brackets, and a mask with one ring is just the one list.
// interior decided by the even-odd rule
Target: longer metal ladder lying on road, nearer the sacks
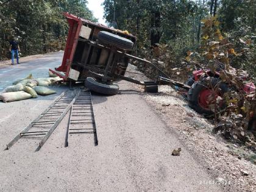
[[(52, 132), (59, 125), (66, 113), (70, 110), (76, 99), (79, 97), (80, 90), (68, 90), (60, 94), (58, 98), (49, 105), (43, 113), (25, 127), (10, 143), (7, 149), (10, 149), (21, 138), (41, 140), (36, 151), (39, 151), (43, 144), (48, 140)], [(43, 137), (42, 137), (43, 136)]]

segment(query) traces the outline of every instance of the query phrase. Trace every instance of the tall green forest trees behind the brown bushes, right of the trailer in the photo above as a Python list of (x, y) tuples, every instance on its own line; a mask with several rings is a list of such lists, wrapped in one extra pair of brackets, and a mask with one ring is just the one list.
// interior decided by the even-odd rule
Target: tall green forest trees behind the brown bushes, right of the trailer
[[(138, 37), (138, 55), (145, 55), (145, 51), (151, 52), (148, 59), (153, 59), (152, 52), (155, 50), (152, 46), (155, 46), (155, 43), (168, 44), (168, 50), (171, 52), (169, 63), (172, 63), (168, 66), (177, 68), (187, 51), (200, 52), (200, 48), (210, 39), (220, 41), (223, 35), (234, 44), (233, 49), (241, 53), (239, 57), (233, 55), (230, 58), (230, 65), (248, 70), (253, 77), (256, 75), (255, 0), (105, 0), (103, 4), (105, 19), (110, 26), (116, 23), (119, 29), (128, 30)], [(216, 27), (202, 26), (202, 19), (210, 14), (218, 15), (218, 30)], [(202, 34), (206, 34), (204, 40), (201, 40)], [(214, 37), (210, 37), (211, 34)], [(240, 38), (244, 41), (251, 40), (251, 44), (241, 43)], [(248, 49), (249, 51), (243, 51)], [(194, 55), (199, 57), (199, 54)], [(201, 58), (202, 62), (204, 60), (204, 57)]]

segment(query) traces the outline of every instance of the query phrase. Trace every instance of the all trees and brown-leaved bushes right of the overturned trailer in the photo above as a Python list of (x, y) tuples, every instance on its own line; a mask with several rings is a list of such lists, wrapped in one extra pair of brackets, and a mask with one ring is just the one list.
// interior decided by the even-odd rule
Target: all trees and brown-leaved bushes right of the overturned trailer
[[(104, 5), (110, 25), (117, 24), (138, 37), (138, 56), (172, 79), (185, 81), (194, 68), (215, 72), (224, 66), (220, 77), (232, 92), (215, 99), (227, 102), (225, 114), (211, 107), (216, 122), (221, 121), (216, 131), (248, 142), (246, 122), (256, 113), (255, 94), (247, 95), (242, 89), (247, 73), (251, 75), (247, 80), (256, 76), (255, 0), (105, 0)], [(158, 75), (143, 63), (133, 64), (149, 77)]]

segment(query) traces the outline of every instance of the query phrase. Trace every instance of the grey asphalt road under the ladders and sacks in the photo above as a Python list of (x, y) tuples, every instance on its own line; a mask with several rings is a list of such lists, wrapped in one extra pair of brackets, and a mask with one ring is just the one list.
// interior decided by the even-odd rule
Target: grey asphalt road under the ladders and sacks
[[(32, 73), (47, 77), (59, 66), (63, 52), (44, 55), (0, 69), (0, 87)], [(120, 94), (93, 94), (99, 145), (93, 135), (73, 135), (64, 148), (68, 115), (43, 148), (38, 141), (5, 145), (43, 112), (58, 94), (37, 99), (0, 102), (0, 191), (222, 191), (198, 158), (137, 93), (121, 81)], [(135, 91), (126, 91), (135, 90)], [(169, 121), (172, 121), (169, 119)], [(173, 149), (182, 148), (180, 156)]]

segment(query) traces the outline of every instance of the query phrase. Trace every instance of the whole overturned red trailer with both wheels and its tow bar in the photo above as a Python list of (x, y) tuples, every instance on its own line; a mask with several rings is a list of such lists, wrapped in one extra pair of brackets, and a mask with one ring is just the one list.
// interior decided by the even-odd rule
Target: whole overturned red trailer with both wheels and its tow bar
[[(160, 84), (189, 88), (171, 80), (153, 63), (133, 56), (132, 50), (137, 38), (127, 31), (93, 23), (69, 13), (64, 15), (69, 24), (69, 32), (62, 65), (50, 71), (65, 81), (85, 81), (88, 88), (103, 94), (118, 93), (119, 87), (113, 82), (121, 79), (144, 85), (145, 90), (154, 92)], [(140, 81), (124, 76), (129, 60), (146, 63), (155, 68), (161, 76), (152, 81)]]

